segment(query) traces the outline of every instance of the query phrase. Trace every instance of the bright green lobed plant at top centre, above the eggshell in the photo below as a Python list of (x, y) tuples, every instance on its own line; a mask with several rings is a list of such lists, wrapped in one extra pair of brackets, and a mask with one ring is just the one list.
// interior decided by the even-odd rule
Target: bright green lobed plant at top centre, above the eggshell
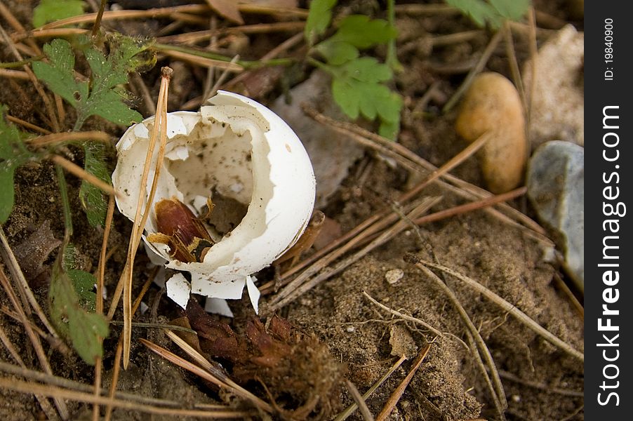
[(332, 76), (332, 94), (350, 119), (364, 116), (380, 119), (379, 133), (395, 139), (400, 128), (402, 98), (385, 84), (393, 77), (389, 65), (373, 57), (361, 57), (361, 50), (389, 44), (397, 35), (386, 20), (370, 19), (366, 15), (349, 15), (336, 25), (336, 32), (317, 42), (332, 20), (335, 0), (313, 0), (305, 25), (305, 39), (312, 47), (312, 65)]

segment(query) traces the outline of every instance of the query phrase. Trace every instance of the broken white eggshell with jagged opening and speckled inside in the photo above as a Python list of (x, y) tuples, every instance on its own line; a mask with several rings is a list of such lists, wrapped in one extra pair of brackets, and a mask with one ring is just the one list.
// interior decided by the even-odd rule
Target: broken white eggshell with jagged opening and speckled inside
[[(165, 157), (142, 239), (153, 262), (191, 274), (190, 292), (239, 299), (246, 285), (257, 311), (259, 291), (251, 274), (291, 248), (307, 226), (315, 196), (312, 164), (292, 129), (258, 102), (224, 91), (208, 102), (199, 112), (167, 115)], [(140, 186), (153, 125), (152, 116), (131, 126), (116, 145), (116, 204), (131, 220), (139, 189), (145, 206), (154, 177), (151, 170), (147, 185)], [(155, 149), (150, 168), (156, 167), (158, 145)], [(180, 262), (166, 244), (147, 240), (157, 232), (155, 203), (175, 197), (202, 215), (213, 194), (248, 210), (239, 224), (218, 237), (202, 262)], [(168, 296), (181, 307), (189, 300), (188, 288), (182, 274), (167, 281)]]

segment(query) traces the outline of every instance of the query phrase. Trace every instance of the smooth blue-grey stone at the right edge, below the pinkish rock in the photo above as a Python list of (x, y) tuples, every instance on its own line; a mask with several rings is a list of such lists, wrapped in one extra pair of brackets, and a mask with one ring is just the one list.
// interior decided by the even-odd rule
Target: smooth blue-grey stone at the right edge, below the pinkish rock
[(553, 140), (538, 147), (528, 164), (528, 196), (564, 251), (564, 267), (585, 286), (585, 149)]

